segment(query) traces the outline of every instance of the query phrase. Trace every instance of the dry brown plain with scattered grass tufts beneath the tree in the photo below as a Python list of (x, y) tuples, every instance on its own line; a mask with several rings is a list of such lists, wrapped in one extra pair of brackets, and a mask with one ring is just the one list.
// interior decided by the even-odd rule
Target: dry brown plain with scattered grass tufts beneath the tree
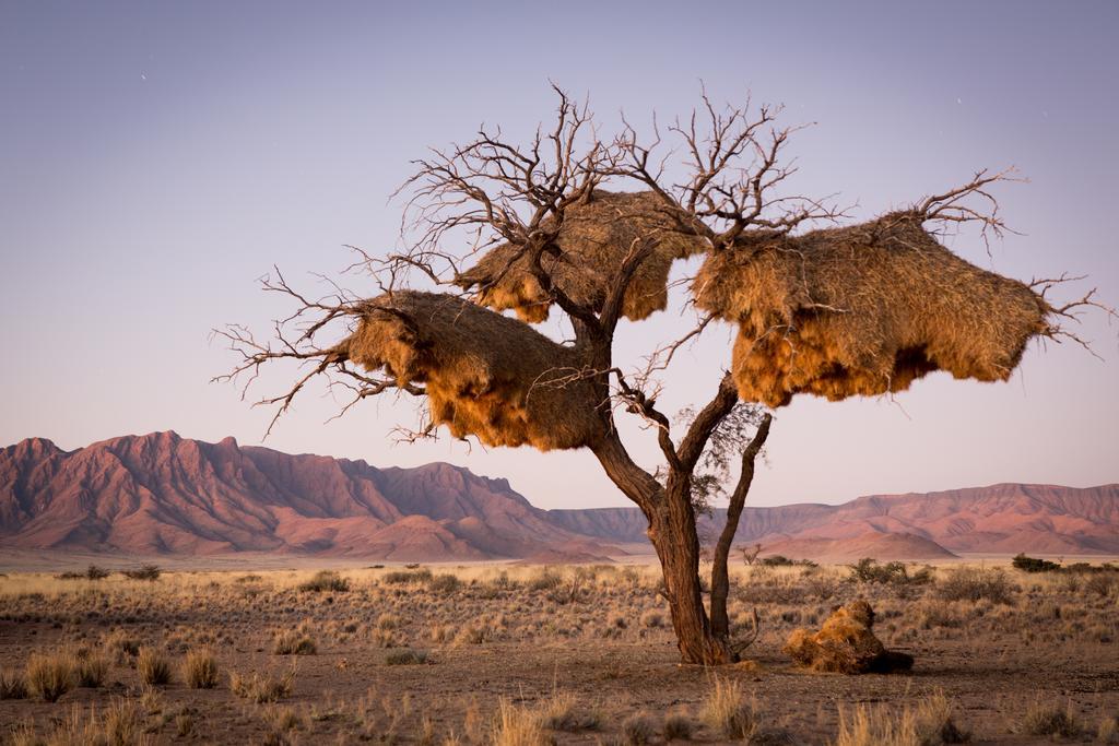
[[(843, 566), (742, 567), (731, 616), (749, 627), (756, 608), (761, 633), (745, 663), (717, 670), (678, 664), (652, 567), (9, 573), (0, 742), (967, 737), (950, 719), (971, 743), (1119, 743), (1119, 574), (908, 570), (873, 582)], [(781, 652), (790, 632), (857, 597), (913, 671), (796, 669)]]

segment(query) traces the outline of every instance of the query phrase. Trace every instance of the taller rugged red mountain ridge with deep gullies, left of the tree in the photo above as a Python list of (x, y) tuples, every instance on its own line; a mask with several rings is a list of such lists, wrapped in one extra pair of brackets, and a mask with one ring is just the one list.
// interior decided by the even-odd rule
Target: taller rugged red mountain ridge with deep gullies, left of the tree
[(396, 560), (617, 553), (558, 526), (506, 480), (459, 466), (376, 469), (171, 432), (0, 451), (0, 547)]

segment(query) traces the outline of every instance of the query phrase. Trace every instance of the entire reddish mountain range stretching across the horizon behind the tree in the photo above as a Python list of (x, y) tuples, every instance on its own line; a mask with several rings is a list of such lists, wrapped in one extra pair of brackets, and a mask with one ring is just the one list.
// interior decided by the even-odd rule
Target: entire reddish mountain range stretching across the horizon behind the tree
[[(700, 521), (716, 535), (722, 511)], [(763, 554), (937, 559), (952, 553), (1119, 554), (1119, 484), (996, 484), (746, 508)], [(173, 432), (64, 451), (0, 450), (0, 548), (129, 555), (235, 553), (397, 561), (601, 561), (647, 553), (637, 508), (542, 510), (461, 466), (372, 466)]]

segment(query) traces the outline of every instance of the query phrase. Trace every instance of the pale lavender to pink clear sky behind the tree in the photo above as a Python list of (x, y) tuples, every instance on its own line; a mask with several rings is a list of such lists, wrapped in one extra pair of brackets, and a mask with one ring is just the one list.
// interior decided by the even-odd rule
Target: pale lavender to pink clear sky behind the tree
[[(783, 103), (783, 121), (812, 123), (789, 147), (798, 188), (857, 201), (855, 219), (1016, 166), (1029, 182), (997, 195), (1019, 235), (989, 254), (967, 233), (950, 247), (1022, 280), (1089, 275), (1064, 296), (1098, 287), (1115, 304), (1117, 36), (1119, 3), (1089, 1), (0, 0), (0, 445), (164, 429), (262, 444), (271, 413), (209, 383), (235, 362), (210, 329), (266, 332), (290, 310), (258, 291), (273, 265), (313, 291), (312, 273), (349, 263), (345, 244), (395, 248), (410, 161), (483, 122), (526, 139), (552, 115), (549, 81), (605, 124), (686, 115), (700, 81), (716, 101)], [(626, 324), (620, 357), (686, 322)], [(1005, 384), (933, 374), (892, 399), (798, 397), (751, 504), (1119, 481), (1119, 324), (1089, 314), (1076, 331), (1094, 356), (1035, 341)], [(664, 408), (711, 396), (731, 332), (686, 350)], [(338, 406), (304, 395), (263, 444), (448, 461), (545, 508), (627, 504), (586, 452), (399, 444), (412, 402), (327, 422)], [(652, 441), (631, 435), (651, 466)]]

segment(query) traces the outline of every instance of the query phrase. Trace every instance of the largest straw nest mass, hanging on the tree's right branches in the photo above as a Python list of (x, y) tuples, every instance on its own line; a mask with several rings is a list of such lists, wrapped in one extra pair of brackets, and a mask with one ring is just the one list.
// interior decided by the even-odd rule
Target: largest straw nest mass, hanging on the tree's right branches
[(747, 234), (707, 258), (699, 308), (737, 322), (739, 395), (771, 407), (900, 391), (933, 370), (1005, 380), (1053, 309), (944, 248), (913, 214), (789, 237)]

